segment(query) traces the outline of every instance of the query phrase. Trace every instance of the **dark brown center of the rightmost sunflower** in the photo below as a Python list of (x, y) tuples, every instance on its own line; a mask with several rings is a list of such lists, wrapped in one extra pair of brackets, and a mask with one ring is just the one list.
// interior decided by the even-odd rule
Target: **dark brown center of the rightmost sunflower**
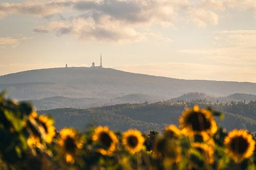
[(239, 137), (234, 137), (231, 140), (230, 146), (231, 146), (232, 151), (234, 151), (238, 154), (243, 154), (246, 152), (249, 144), (246, 139), (239, 136)]

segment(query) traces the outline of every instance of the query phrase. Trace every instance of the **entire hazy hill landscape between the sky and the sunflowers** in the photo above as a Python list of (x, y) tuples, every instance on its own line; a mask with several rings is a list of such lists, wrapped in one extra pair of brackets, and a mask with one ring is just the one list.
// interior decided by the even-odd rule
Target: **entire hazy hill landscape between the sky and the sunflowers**
[[(51, 114), (56, 127), (107, 125), (112, 129), (160, 130), (178, 125), (184, 107), (199, 103), (223, 111), (218, 122), (255, 131), (256, 83), (182, 80), (112, 68), (38, 69), (0, 77), (0, 90)], [(41, 111), (40, 111), (41, 110)]]

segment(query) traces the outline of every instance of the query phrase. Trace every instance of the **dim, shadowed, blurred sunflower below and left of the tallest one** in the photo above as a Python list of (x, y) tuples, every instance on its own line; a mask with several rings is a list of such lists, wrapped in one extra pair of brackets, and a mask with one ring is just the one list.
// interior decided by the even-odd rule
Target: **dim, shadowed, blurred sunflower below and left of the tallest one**
[(165, 158), (171, 162), (178, 162), (181, 158), (181, 148), (177, 140), (161, 136), (154, 145), (154, 154), (158, 158)]

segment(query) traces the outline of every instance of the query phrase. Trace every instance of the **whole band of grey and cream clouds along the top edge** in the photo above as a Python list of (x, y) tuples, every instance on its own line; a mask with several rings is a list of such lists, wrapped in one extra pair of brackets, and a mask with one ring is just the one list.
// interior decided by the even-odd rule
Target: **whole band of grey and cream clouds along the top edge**
[(229, 8), (256, 14), (256, 2), (250, 0), (28, 0), (0, 3), (0, 17), (26, 14), (48, 18), (49, 23), (34, 29), (37, 33), (54, 31), (58, 36), (70, 34), (86, 41), (140, 41), (156, 34), (152, 28), (175, 27), (178, 20), (199, 28), (216, 26), (219, 12)]

